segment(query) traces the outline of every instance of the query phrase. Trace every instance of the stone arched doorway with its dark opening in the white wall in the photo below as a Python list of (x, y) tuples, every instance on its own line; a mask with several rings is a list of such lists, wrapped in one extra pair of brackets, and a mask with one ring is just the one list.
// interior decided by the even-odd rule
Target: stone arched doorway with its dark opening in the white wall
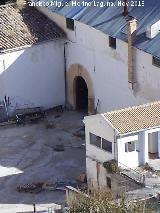
[[(78, 86), (79, 88), (77, 88)], [(79, 91), (79, 93), (82, 94), (78, 95), (77, 90), (81, 89), (82, 91)], [(83, 94), (83, 92), (85, 92), (85, 94)], [(84, 99), (84, 102), (79, 103), (80, 100), (78, 100), (78, 98), (80, 97)], [(67, 104), (71, 109), (76, 110), (80, 107), (77, 103), (80, 105), (84, 104), (84, 107), (87, 104), (88, 114), (94, 114), (94, 91), (90, 74), (83, 66), (73, 64), (67, 71)]]

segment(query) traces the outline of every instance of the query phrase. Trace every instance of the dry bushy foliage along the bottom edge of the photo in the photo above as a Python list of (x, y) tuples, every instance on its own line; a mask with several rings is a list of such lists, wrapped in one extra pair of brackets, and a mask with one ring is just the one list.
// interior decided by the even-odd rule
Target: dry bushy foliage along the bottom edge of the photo
[(128, 201), (126, 198), (113, 199), (108, 190), (96, 192), (92, 196), (77, 194), (70, 202), (69, 213), (152, 213), (153, 206), (146, 203)]

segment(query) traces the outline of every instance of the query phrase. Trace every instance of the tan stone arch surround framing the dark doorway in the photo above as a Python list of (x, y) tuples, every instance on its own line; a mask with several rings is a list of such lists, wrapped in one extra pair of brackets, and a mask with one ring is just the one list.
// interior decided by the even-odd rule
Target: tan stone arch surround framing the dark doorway
[(82, 77), (88, 88), (88, 114), (94, 114), (94, 90), (89, 72), (80, 64), (72, 64), (67, 71), (67, 105), (76, 110), (76, 78)]

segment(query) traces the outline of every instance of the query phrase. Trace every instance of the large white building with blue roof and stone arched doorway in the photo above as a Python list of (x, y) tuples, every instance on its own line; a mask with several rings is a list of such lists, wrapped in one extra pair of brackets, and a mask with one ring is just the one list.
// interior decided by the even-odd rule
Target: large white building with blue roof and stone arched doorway
[[(106, 112), (159, 100), (160, 2), (148, 0), (141, 7), (129, 6), (129, 16), (123, 15), (122, 6), (76, 7), (72, 2), (67, 1), (66, 7), (38, 7), (67, 34), (68, 105), (78, 109), (78, 100), (87, 97), (88, 111), (93, 113), (95, 109)], [(137, 25), (134, 20), (129, 22), (130, 16), (137, 19)], [(79, 95), (78, 84), (83, 87), (85, 83), (83, 95)]]

